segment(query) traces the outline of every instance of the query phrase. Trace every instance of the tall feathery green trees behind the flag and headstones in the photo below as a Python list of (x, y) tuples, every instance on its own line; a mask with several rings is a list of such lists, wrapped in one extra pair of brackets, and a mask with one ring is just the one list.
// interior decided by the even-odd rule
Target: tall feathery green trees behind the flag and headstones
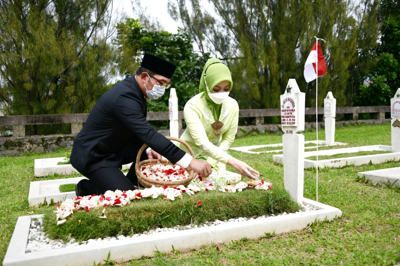
[(338, 105), (348, 104), (358, 90), (347, 87), (352, 70), (368, 68), (360, 55), (376, 46), (379, 35), (378, 2), (373, 0), (209, 2), (215, 16), (202, 10), (199, 0), (190, 1), (191, 11), (187, 1), (169, 0), (169, 12), (182, 21), (202, 52), (226, 60), (241, 108), (277, 108), (290, 78), (306, 93), (306, 106), (315, 106), (315, 81), (306, 83), (303, 76), (314, 36), (326, 40), (321, 45), (328, 67), (318, 79), (318, 93), (332, 91)]

